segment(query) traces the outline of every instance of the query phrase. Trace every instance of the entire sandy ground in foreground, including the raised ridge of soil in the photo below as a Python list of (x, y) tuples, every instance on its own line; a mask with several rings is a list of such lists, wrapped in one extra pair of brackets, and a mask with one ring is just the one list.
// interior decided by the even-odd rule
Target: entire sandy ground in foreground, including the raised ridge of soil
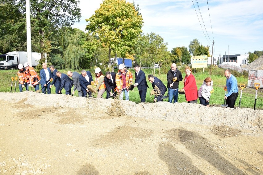
[(0, 93), (0, 174), (263, 174), (263, 110)]

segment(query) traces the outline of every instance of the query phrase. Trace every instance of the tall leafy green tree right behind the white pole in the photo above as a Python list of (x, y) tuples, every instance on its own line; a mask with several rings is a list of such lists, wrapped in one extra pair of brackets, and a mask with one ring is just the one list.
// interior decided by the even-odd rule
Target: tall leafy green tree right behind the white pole
[[(23, 14), (26, 12), (26, 0), (16, 3)], [(31, 0), (31, 33), (38, 35), (40, 42), (38, 51), (41, 59), (44, 53), (51, 49), (50, 35), (63, 26), (70, 26), (81, 17), (81, 10), (78, 8), (79, 0)]]

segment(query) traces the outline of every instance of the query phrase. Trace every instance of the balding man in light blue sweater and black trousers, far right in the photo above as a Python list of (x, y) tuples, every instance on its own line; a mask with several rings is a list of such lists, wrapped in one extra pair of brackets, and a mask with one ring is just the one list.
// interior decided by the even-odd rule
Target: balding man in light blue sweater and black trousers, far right
[(226, 86), (228, 88), (228, 93), (225, 95), (226, 104), (229, 108), (234, 108), (236, 99), (238, 97), (237, 80), (228, 69), (225, 71), (225, 77), (227, 78)]

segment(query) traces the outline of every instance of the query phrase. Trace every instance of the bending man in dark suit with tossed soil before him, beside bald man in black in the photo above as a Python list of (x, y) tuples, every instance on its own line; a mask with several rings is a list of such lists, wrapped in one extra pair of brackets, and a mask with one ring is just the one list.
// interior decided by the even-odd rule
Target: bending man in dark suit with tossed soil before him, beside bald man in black
[(148, 80), (152, 83), (152, 88), (155, 91), (153, 102), (163, 101), (162, 97), (167, 90), (166, 86), (159, 78), (154, 77), (152, 74), (148, 75)]

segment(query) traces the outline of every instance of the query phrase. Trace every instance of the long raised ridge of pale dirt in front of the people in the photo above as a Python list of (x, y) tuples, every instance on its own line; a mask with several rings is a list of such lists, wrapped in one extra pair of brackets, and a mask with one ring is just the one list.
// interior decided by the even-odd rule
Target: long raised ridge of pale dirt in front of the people
[[(158, 102), (140, 103), (118, 99), (72, 97), (70, 95), (43, 94), (25, 91), (22, 93), (0, 93), (0, 100), (35, 104), (45, 107), (70, 107), (90, 109), (94, 116), (105, 113), (111, 116), (133, 116), (146, 119), (163, 119), (205, 125), (227, 125), (233, 128), (263, 130), (263, 110), (251, 108), (206, 107), (198, 104)], [(80, 119), (76, 119), (79, 121)], [(66, 122), (66, 121), (65, 121)]]

